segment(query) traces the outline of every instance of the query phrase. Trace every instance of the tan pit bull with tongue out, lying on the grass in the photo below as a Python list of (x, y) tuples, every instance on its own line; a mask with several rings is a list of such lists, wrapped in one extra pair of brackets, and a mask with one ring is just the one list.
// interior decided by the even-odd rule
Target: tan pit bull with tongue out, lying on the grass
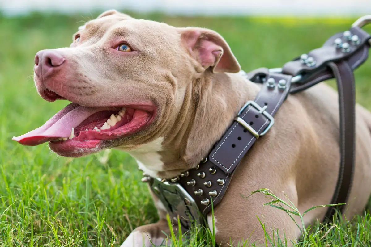
[[(79, 157), (107, 148), (131, 154), (153, 177), (171, 178), (197, 166), (221, 138), (259, 85), (215, 31), (134, 19), (110, 10), (89, 21), (68, 48), (35, 57), (35, 84), (43, 99), (72, 101), (43, 126), (14, 140), (49, 142), (61, 156)], [(319, 84), (290, 95), (275, 126), (243, 158), (214, 209), (216, 242), (245, 239), (263, 244), (264, 232), (295, 239), (300, 229), (281, 210), (251, 191), (270, 188), (303, 212), (329, 204), (339, 172), (337, 93)], [(356, 107), (355, 173), (345, 214), (361, 213), (371, 193), (371, 113)], [(164, 205), (154, 195), (160, 220), (136, 228), (122, 246), (159, 245), (169, 234)], [(310, 211), (306, 226), (327, 208)], [(297, 218), (295, 218), (298, 220)], [(211, 215), (207, 216), (211, 227)], [(149, 238), (148, 238), (149, 237)]]

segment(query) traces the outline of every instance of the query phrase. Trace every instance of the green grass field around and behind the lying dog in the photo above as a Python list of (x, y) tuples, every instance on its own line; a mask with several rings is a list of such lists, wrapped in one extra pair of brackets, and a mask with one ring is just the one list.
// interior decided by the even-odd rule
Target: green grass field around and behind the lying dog
[[(280, 67), (348, 29), (353, 21), (133, 16), (214, 29), (229, 42), (245, 71)], [(63, 158), (47, 144), (24, 147), (11, 140), (41, 126), (68, 104), (48, 103), (38, 96), (32, 79), (35, 53), (69, 46), (78, 26), (93, 17), (0, 16), (0, 246), (119, 246), (133, 228), (157, 220), (147, 187), (140, 182), (141, 172), (128, 154), (106, 150)], [(371, 61), (355, 77), (357, 101), (371, 110)], [(369, 211), (349, 220), (313, 226), (299, 246), (370, 246)], [(194, 230), (191, 238), (197, 234), (205, 231)], [(193, 245), (211, 242), (206, 238)]]

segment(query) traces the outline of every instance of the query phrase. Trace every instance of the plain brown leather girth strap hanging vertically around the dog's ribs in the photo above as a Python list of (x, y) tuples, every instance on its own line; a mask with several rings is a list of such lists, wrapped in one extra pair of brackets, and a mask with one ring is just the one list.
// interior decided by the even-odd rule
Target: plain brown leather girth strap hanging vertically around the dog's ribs
[[(345, 61), (328, 64), (336, 78), (339, 93), (340, 167), (331, 204), (346, 203), (352, 187), (355, 162), (355, 84), (353, 71)], [(345, 205), (329, 207), (325, 219), (331, 219), (335, 208), (343, 213)]]

